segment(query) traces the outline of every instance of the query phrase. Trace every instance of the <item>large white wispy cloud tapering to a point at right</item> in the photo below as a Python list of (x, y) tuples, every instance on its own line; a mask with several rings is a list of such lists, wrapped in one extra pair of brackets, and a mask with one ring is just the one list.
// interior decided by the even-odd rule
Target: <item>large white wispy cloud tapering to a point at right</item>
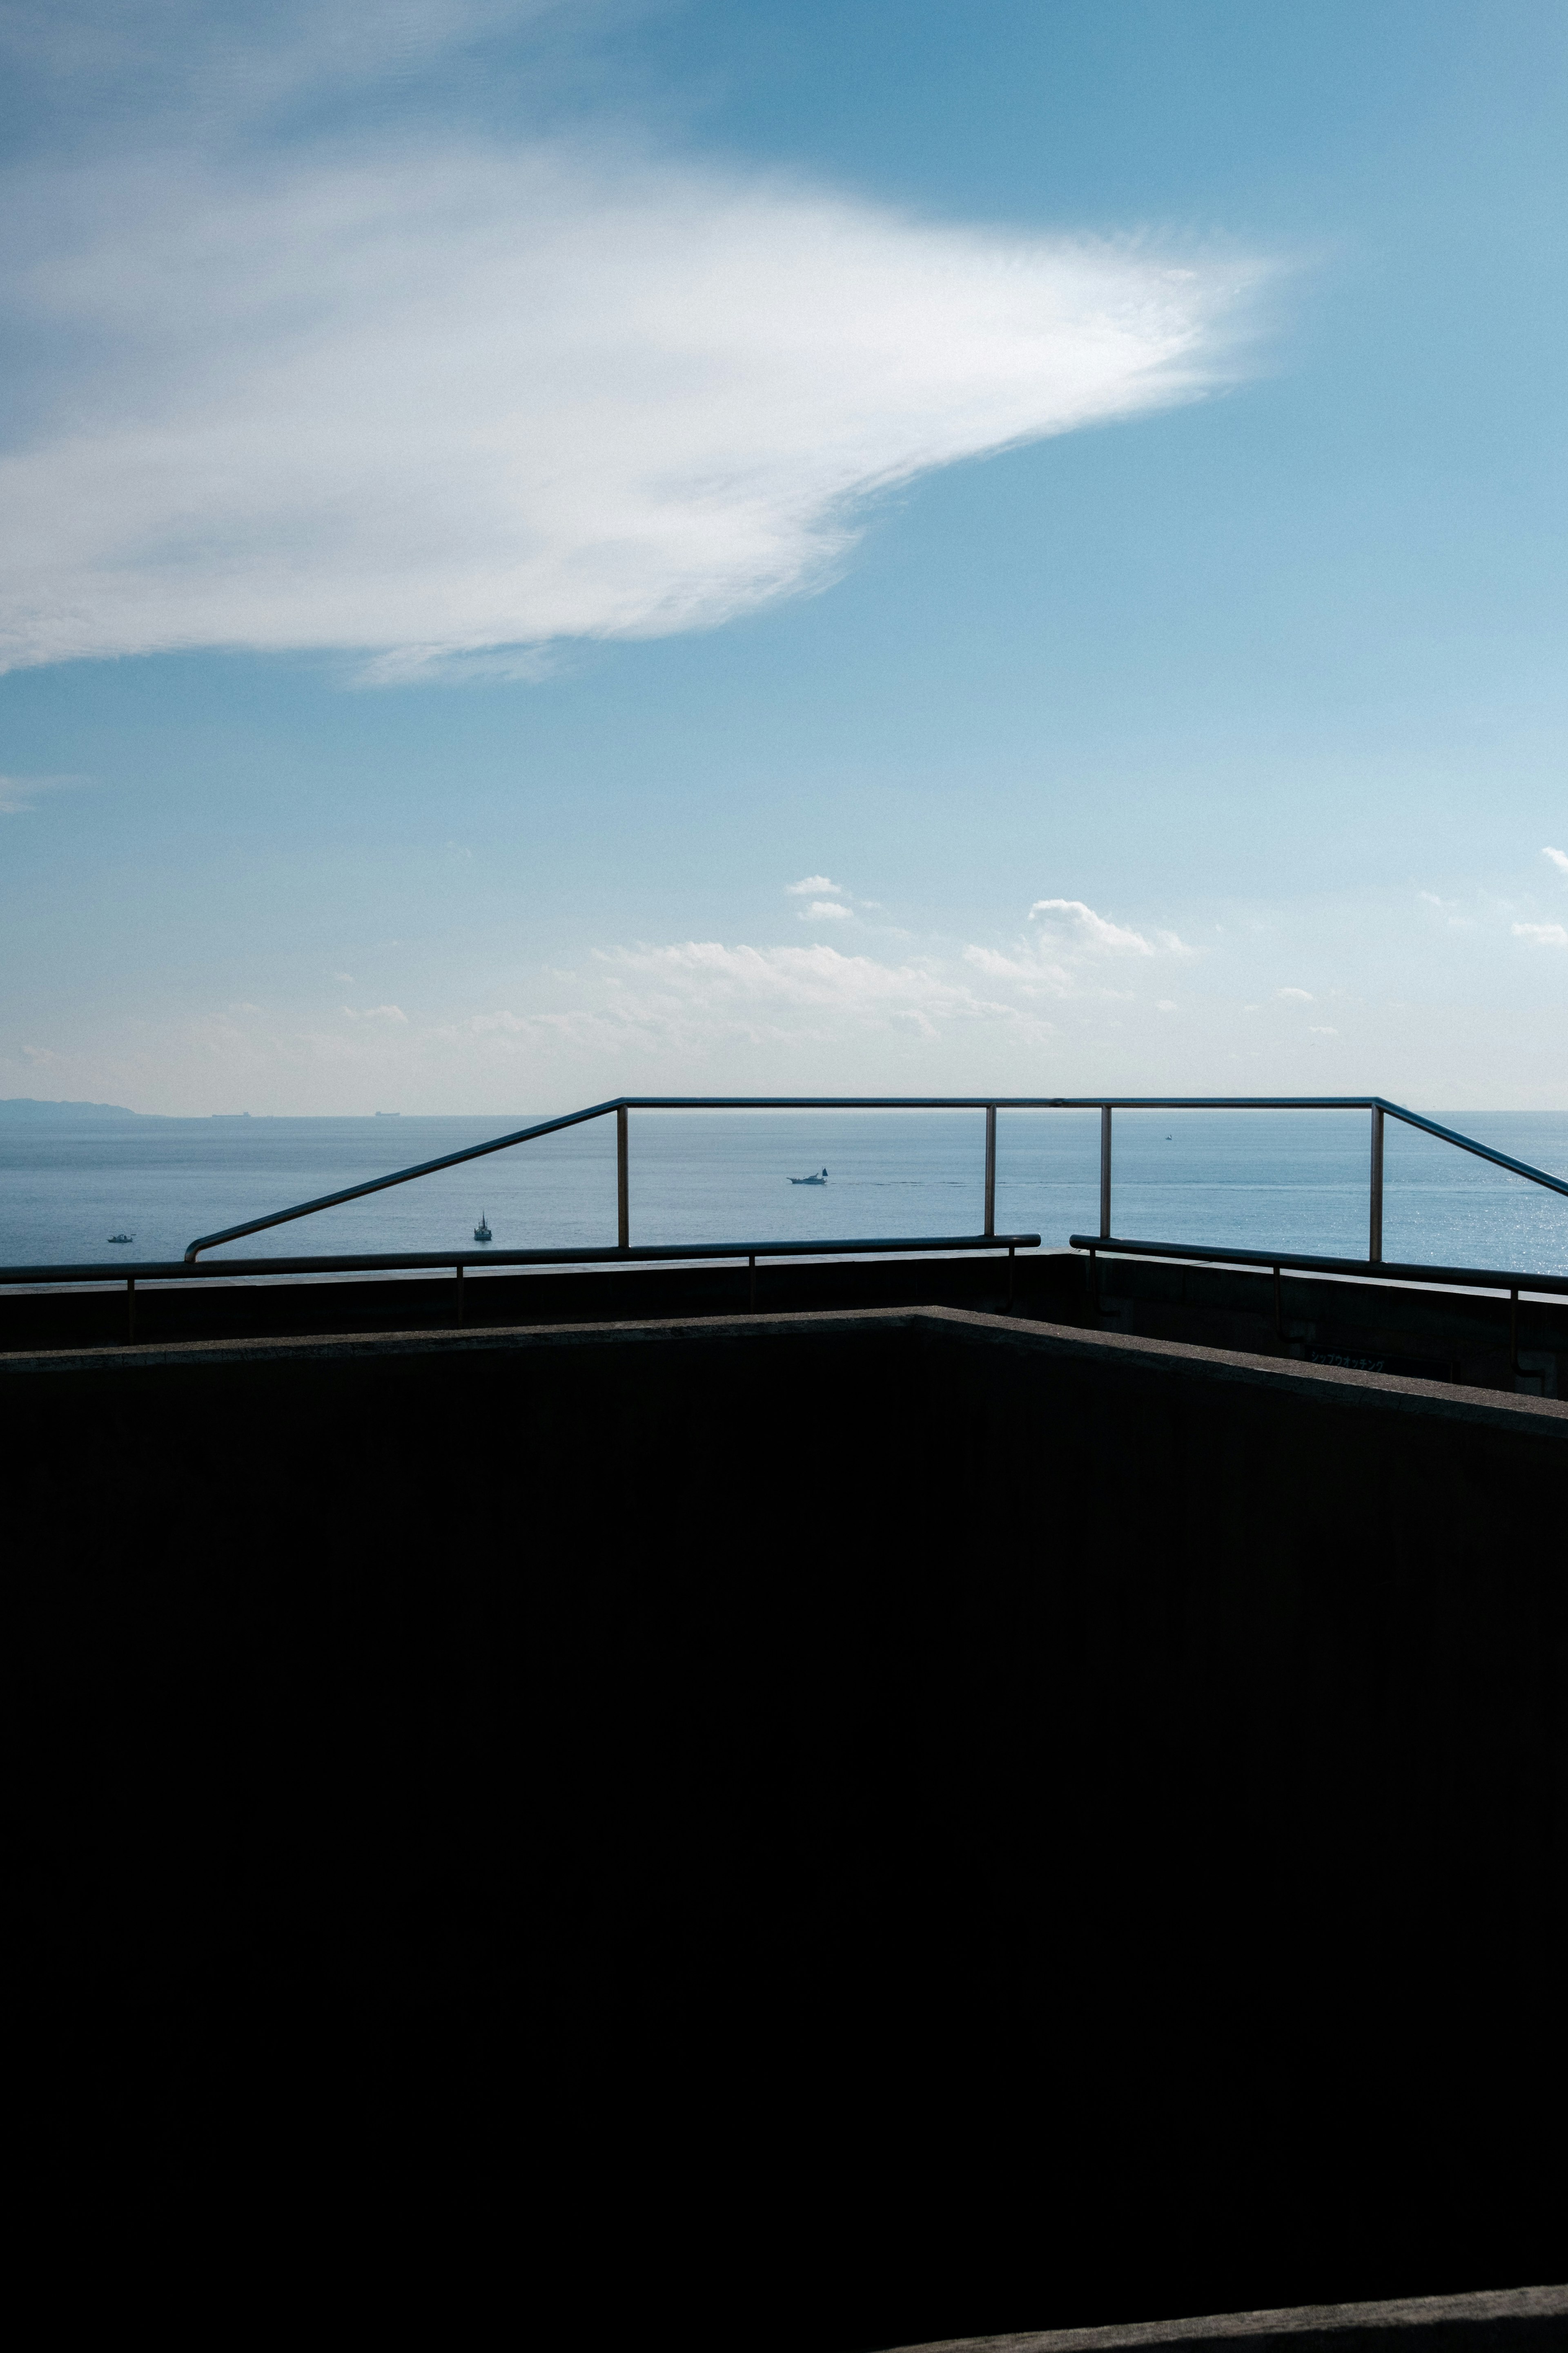
[(550, 640), (708, 628), (827, 581), (877, 492), (1234, 374), (1265, 275), (447, 125), (268, 148), (165, 115), (0, 198), (35, 358), (0, 666), (531, 675)]

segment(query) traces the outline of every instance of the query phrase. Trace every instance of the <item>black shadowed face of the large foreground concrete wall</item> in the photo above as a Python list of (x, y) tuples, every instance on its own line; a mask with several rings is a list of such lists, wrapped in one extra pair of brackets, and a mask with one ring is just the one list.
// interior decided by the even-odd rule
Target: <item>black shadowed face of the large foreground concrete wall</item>
[(543, 2167), (597, 2327), (820, 2353), (1568, 2268), (1568, 1407), (943, 1311), (0, 1369), (61, 2181)]

